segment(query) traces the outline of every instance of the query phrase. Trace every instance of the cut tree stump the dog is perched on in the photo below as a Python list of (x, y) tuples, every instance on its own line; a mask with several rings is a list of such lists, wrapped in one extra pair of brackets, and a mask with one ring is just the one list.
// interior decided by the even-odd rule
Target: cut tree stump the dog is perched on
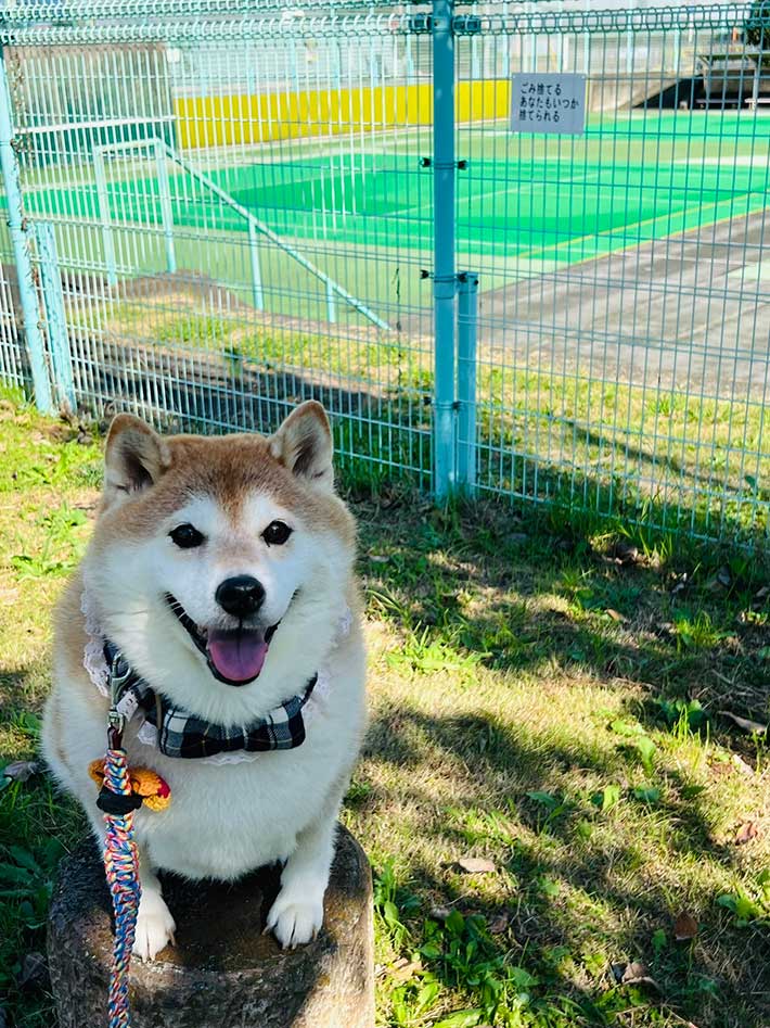
[[(264, 936), (278, 868), (235, 884), (164, 877), (177, 944), (131, 962), (132, 1028), (373, 1028), (372, 878), (339, 828), (323, 929), (296, 950)], [(60, 1028), (106, 1028), (112, 906), (92, 842), (62, 862), (48, 952)]]

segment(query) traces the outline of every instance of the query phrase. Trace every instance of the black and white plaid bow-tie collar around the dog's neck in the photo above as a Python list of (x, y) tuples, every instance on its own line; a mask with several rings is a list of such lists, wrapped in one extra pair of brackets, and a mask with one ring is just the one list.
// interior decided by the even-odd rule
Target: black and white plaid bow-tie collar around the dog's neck
[(266, 718), (248, 725), (223, 728), (203, 721), (181, 707), (171, 707), (129, 665), (119, 649), (104, 644), (115, 705), (126, 719), (140, 708), (144, 720), (157, 733), (157, 747), (166, 757), (201, 758), (245, 750), (291, 750), (305, 741), (303, 708), (310, 698), (318, 675), (313, 675), (298, 696), (285, 700)]

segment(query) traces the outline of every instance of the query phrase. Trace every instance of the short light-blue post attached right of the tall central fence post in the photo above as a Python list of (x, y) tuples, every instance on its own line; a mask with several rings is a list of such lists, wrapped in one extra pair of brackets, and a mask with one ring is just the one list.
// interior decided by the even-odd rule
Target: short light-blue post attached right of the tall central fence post
[(476, 487), (476, 329), (478, 272), (458, 275), (458, 485)]

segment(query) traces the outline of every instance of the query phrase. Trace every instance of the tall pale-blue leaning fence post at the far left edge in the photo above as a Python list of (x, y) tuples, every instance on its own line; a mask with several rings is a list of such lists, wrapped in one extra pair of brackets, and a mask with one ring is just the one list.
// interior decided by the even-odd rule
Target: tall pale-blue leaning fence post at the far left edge
[(50, 414), (53, 410), (51, 382), (46, 365), (46, 346), (40, 328), (40, 308), (33, 276), (33, 262), (29, 252), (30, 236), (27, 219), (24, 217), (24, 198), (18, 170), (18, 157), (14, 150), (13, 107), (11, 90), (5, 67), (5, 49), (0, 47), (0, 168), (2, 169), (8, 202), (8, 227), (11, 233), (13, 256), (16, 262), (18, 296), (24, 317), (24, 338), (29, 352), (33, 372), (35, 403), (38, 410)]

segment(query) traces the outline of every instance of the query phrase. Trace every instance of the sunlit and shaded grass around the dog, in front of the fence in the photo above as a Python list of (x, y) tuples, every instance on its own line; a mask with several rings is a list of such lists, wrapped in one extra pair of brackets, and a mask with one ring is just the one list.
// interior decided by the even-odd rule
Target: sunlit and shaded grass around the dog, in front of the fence
[[(5, 765), (37, 752), (50, 609), (88, 536), (100, 444), (18, 397), (0, 419)], [(719, 711), (768, 719), (767, 567), (670, 535), (634, 553), (557, 510), (436, 510), (345, 472), (343, 488), (371, 669), (344, 818), (375, 871), (381, 1028), (765, 1028), (770, 763)], [(747, 820), (758, 835), (737, 846)], [(44, 985), (17, 975), (84, 830), (44, 774), (0, 791), (12, 1025), (53, 1026)], [(490, 870), (463, 873), (467, 858)], [(683, 912), (697, 934), (677, 941)], [(616, 980), (632, 961), (655, 986)]]

